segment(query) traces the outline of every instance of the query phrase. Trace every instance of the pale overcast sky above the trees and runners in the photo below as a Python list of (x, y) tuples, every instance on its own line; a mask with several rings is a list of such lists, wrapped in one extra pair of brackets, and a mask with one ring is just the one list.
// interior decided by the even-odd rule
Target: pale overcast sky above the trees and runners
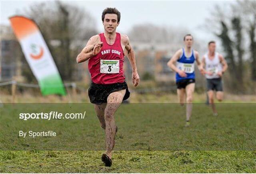
[[(118, 26), (119, 32), (127, 33), (136, 24), (152, 23), (158, 26), (175, 26), (187, 28), (199, 39), (212, 39), (212, 35), (200, 28), (205, 18), (210, 16), (210, 10), (216, 4), (225, 6), (230, 1), (66, 1), (64, 3), (84, 8), (96, 20), (96, 28), (103, 29), (101, 22), (102, 10), (106, 7), (116, 7), (121, 12), (121, 21)], [(17, 11), (24, 11), (28, 6), (40, 3), (41, 0), (1, 0), (1, 22), (0, 24), (10, 25), (8, 17), (17, 14)], [(103, 31), (103, 30), (102, 30)]]

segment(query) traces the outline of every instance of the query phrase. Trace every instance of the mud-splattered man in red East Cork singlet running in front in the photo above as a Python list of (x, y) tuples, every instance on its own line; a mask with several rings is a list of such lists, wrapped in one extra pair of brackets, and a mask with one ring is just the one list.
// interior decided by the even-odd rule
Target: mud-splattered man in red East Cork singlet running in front
[(106, 152), (102, 154), (105, 166), (112, 165), (112, 150), (117, 127), (114, 114), (122, 100), (130, 96), (124, 77), (124, 55), (132, 66), (132, 82), (137, 86), (140, 78), (137, 72), (134, 50), (126, 35), (116, 32), (120, 22), (120, 12), (116, 8), (106, 8), (102, 12), (104, 33), (92, 36), (78, 54), (78, 63), (89, 60), (88, 68), (92, 84), (88, 90), (90, 102), (95, 104), (95, 112), (106, 133)]

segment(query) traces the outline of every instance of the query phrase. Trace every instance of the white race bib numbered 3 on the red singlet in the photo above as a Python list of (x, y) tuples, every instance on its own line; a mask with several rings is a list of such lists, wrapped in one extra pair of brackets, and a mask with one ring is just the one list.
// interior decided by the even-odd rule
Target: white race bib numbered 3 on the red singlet
[(119, 60), (100, 60), (100, 73), (119, 73)]

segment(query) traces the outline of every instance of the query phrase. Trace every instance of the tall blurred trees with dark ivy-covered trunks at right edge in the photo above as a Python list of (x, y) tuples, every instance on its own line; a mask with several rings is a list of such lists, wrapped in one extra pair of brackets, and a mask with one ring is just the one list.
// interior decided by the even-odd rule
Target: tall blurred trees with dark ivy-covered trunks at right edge
[[(206, 21), (206, 29), (222, 42), (229, 64), (232, 92), (246, 92), (252, 88), (254, 84), (247, 78), (248, 73), (251, 74), (250, 79), (256, 79), (255, 9), (255, 1), (231, 2), (228, 6), (215, 6)], [(245, 54), (247, 52), (250, 54)], [(248, 60), (251, 62), (250, 70), (245, 68)], [(245, 82), (249, 86), (245, 86)]]

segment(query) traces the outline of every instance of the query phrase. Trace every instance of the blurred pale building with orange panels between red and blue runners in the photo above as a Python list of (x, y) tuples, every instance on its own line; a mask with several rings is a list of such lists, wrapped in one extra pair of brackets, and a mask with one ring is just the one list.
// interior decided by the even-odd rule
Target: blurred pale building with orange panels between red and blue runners
[[(138, 73), (142, 80), (147, 80), (148, 77), (157, 82), (175, 80), (175, 73), (167, 66), (167, 62), (179, 48), (182, 48), (181, 45), (133, 42), (132, 47), (136, 54)], [(129, 61), (127, 60), (125, 63), (126, 74), (131, 74), (132, 68)]]

